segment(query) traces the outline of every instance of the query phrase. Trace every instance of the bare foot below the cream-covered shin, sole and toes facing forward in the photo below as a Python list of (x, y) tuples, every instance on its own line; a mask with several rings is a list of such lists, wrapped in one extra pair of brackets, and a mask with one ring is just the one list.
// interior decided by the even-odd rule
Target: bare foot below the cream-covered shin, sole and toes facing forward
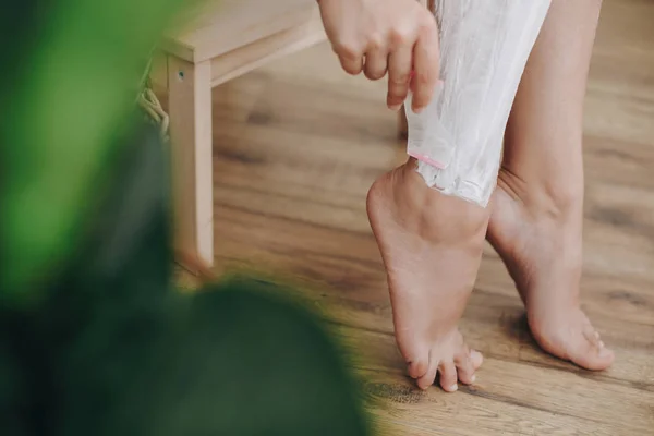
[(457, 328), (482, 255), (488, 211), (427, 187), (415, 161), (380, 177), (367, 214), (386, 265), (396, 338), (409, 375), (446, 391), (474, 382), (482, 354)]

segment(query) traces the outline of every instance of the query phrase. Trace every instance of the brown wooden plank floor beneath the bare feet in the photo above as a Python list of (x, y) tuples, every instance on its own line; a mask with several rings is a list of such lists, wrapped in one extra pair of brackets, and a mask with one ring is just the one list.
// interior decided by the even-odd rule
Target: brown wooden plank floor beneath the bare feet
[(589, 85), (583, 305), (617, 351), (604, 373), (538, 350), (487, 247), (461, 323), (486, 356), (476, 385), (413, 387), (364, 205), (404, 148), (384, 83), (341, 73), (326, 45), (216, 88), (214, 129), (218, 269), (307, 284), (356, 353), (378, 434), (654, 435), (654, 1), (605, 0)]

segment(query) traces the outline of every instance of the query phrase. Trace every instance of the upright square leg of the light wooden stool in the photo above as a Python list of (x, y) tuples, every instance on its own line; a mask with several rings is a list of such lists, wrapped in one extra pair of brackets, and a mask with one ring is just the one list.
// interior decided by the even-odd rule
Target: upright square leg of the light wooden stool
[(214, 265), (211, 65), (168, 57), (175, 249)]

